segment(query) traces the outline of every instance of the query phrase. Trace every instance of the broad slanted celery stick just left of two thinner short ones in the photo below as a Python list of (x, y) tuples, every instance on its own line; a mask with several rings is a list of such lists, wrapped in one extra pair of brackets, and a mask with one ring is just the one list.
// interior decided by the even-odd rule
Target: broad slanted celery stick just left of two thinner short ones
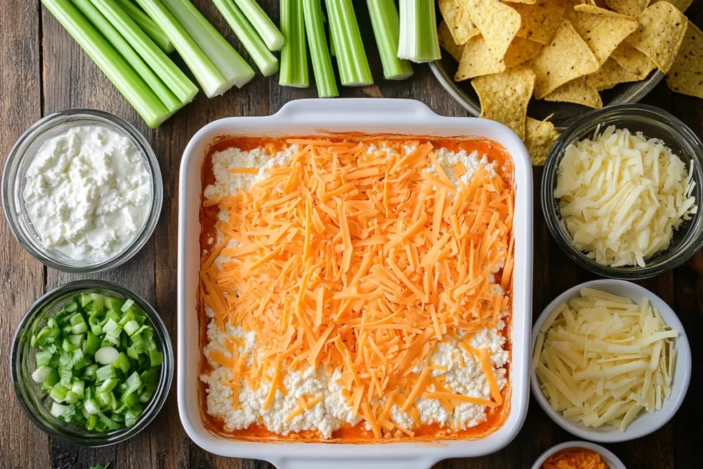
[(254, 78), (254, 70), (190, 0), (162, 0), (196, 44), (217, 66), (227, 84), (241, 88)]

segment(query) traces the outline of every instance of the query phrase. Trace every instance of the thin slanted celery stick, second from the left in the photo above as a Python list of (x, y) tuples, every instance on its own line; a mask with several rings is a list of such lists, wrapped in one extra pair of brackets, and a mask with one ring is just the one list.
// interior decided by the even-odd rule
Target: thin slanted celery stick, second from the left
[(110, 24), (110, 21), (105, 19), (103, 14), (98, 11), (98, 8), (91, 4), (90, 0), (72, 1), (86, 18), (93, 23), (93, 26), (103, 33), (105, 39), (108, 39), (110, 44), (117, 49), (117, 52), (122, 54), (124, 60), (129, 62), (129, 65), (131, 65), (134, 71), (149, 85), (151, 90), (154, 91), (156, 96), (159, 97), (170, 112), (175, 113), (176, 110), (179, 110), (183, 104), (185, 104), (176, 98), (171, 90), (163, 84), (159, 77), (144, 63), (144, 60), (141, 59), (139, 54), (132, 49), (124, 37)]

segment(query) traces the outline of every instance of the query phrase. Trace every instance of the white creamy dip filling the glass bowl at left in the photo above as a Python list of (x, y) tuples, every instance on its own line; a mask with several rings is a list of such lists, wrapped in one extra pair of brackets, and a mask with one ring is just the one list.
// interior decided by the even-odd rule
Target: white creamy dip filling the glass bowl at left
[(25, 175), (25, 210), (41, 244), (101, 260), (146, 223), (153, 181), (138, 148), (106, 127), (82, 125), (44, 142)]

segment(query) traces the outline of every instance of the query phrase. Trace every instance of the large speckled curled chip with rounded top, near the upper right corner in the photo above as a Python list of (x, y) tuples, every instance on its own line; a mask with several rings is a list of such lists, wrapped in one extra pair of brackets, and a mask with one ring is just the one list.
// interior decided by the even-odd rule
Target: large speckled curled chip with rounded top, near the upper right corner
[(625, 40), (657, 64), (659, 70), (669, 72), (686, 34), (688, 20), (666, 1), (650, 6), (638, 15), (637, 20), (640, 26)]

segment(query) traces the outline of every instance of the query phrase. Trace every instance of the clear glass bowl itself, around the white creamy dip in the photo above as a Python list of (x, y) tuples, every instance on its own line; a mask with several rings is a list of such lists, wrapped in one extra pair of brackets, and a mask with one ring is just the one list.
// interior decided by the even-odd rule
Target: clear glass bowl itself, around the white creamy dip
[[(44, 248), (30, 222), (22, 198), (25, 190), (25, 174), (39, 148), (47, 139), (79, 125), (99, 125), (126, 136), (138, 149), (151, 176), (151, 201), (144, 226), (131, 243), (107, 259), (75, 260), (58, 250)], [(47, 266), (73, 274), (94, 274), (106, 271), (131, 259), (154, 232), (161, 212), (162, 198), (163, 184), (159, 162), (146, 139), (129, 122), (95, 109), (64, 110), (34, 122), (10, 150), (2, 175), (2, 202), (5, 217), (18, 243), (35, 259)]]

